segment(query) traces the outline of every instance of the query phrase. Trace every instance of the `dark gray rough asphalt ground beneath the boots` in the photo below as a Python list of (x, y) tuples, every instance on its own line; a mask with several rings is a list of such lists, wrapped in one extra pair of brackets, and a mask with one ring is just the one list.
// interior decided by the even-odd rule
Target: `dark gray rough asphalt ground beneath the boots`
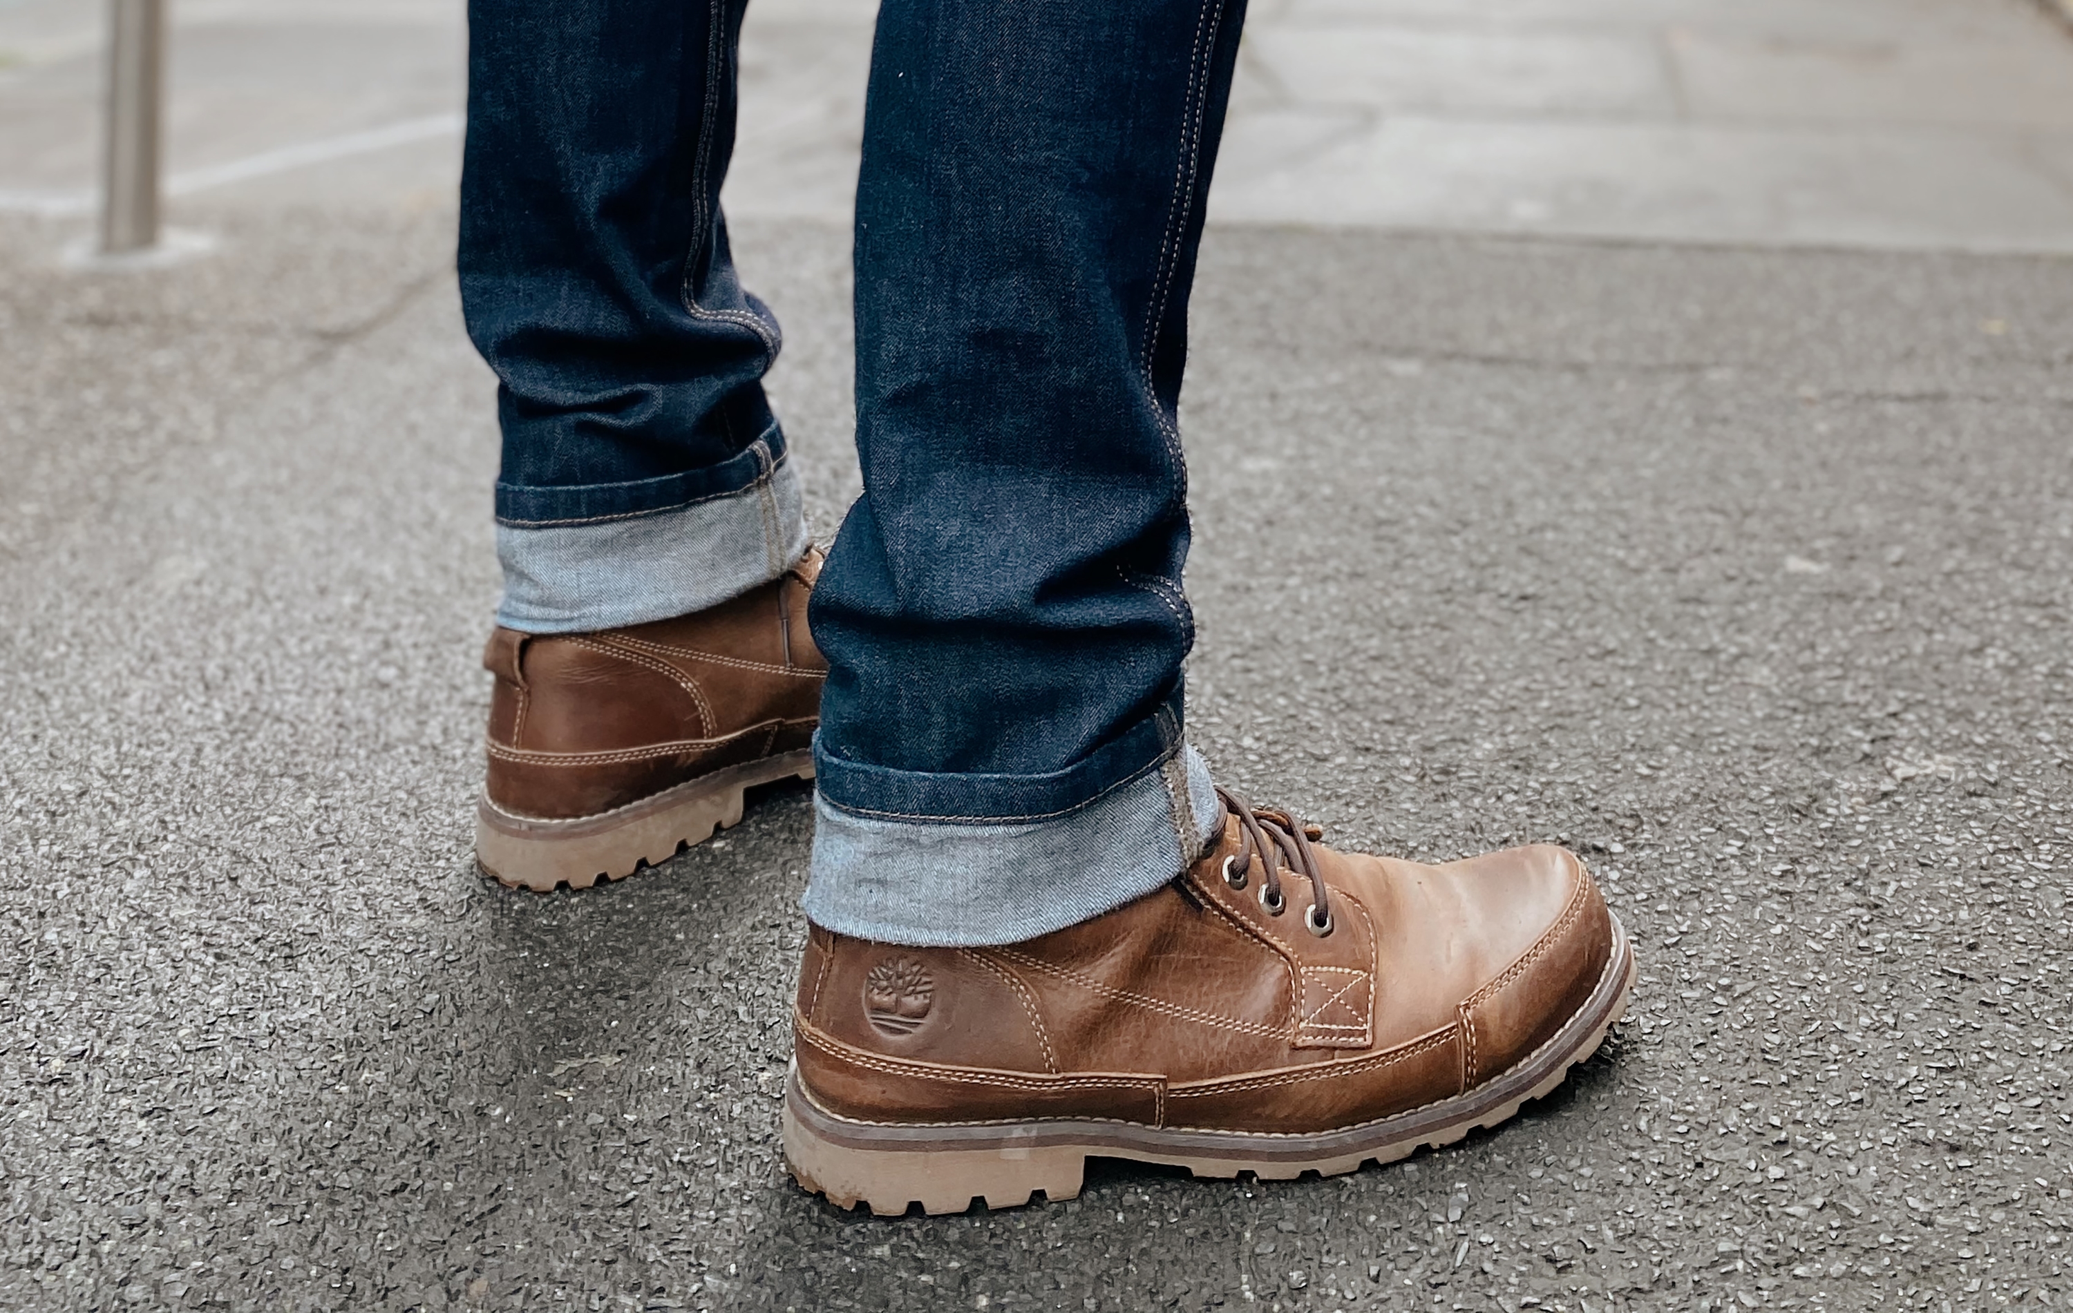
[[(452, 217), (201, 217), (0, 230), (0, 1305), (2073, 1301), (2067, 261), (1215, 230), (1196, 741), (1352, 847), (1575, 845), (1634, 1013), (1393, 1168), (887, 1222), (779, 1166), (800, 789), (473, 872)], [(738, 240), (827, 538), (846, 234)]]

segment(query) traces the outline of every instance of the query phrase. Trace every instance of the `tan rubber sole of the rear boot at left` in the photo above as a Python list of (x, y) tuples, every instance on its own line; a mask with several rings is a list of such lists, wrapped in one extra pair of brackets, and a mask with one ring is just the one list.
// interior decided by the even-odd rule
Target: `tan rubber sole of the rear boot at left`
[(599, 816), (533, 820), (483, 797), (475, 806), (475, 862), (508, 888), (553, 893), (624, 880), (742, 822), (742, 795), (779, 779), (813, 779), (813, 750), (728, 766)]

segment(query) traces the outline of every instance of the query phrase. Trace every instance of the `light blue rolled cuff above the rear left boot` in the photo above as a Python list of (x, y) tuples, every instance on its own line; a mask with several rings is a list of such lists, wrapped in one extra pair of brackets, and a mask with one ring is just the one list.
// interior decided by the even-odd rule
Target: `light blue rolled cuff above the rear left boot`
[(798, 474), (771, 462), (746, 489), (643, 516), (524, 528), (498, 524), (504, 605), (520, 634), (585, 634), (715, 607), (806, 555)]

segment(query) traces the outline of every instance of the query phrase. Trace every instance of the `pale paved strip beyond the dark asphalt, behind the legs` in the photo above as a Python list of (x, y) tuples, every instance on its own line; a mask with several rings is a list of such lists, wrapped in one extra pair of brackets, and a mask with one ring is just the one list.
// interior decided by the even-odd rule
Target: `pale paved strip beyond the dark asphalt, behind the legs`
[[(1252, 0), (1211, 222), (2073, 253), (2052, 4)], [(875, 10), (748, 6), (736, 220), (850, 213)], [(462, 0), (170, 17), (176, 201), (450, 203)], [(0, 0), (0, 213), (91, 213), (102, 23)]]

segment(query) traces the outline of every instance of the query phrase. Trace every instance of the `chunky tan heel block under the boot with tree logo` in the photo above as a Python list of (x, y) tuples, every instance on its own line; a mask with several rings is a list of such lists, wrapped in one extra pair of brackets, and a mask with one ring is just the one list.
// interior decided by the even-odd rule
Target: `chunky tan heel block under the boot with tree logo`
[[(796, 1081), (796, 1077), (794, 1077)], [(869, 1135), (877, 1127), (856, 1127)], [(1018, 1207), (1036, 1191), (1047, 1199), (1080, 1195), (1086, 1154), (1072, 1145), (993, 1145), (983, 1149), (916, 1147), (912, 1139), (860, 1143), (811, 1104), (796, 1083), (786, 1091), (784, 1156), (792, 1178), (835, 1207), (869, 1203), (898, 1218), (914, 1203), (925, 1214), (962, 1214), (972, 1199), (987, 1207)]]

